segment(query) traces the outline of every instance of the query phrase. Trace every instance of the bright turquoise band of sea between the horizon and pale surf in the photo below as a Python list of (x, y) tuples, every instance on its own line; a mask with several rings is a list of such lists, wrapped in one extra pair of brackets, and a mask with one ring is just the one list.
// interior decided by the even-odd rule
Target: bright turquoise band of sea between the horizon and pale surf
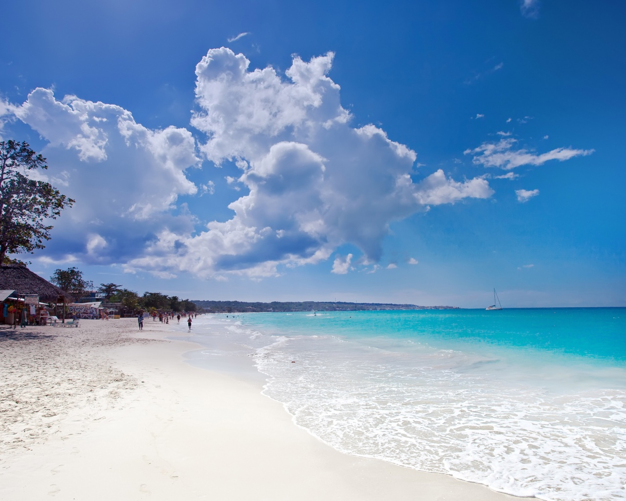
[[(422, 339), (471, 349), (495, 345), (626, 361), (626, 308), (519, 308), (295, 312), (239, 315), (244, 323), (286, 334)], [(599, 360), (598, 360), (599, 361)]]

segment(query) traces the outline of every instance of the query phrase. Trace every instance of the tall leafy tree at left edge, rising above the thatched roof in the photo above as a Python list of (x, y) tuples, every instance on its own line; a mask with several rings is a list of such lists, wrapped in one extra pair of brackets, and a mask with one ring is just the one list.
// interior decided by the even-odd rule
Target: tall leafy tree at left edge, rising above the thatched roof
[(46, 222), (76, 201), (50, 183), (29, 177), (38, 168), (48, 168), (46, 159), (28, 143), (0, 142), (0, 262), (7, 254), (43, 249), (53, 228)]

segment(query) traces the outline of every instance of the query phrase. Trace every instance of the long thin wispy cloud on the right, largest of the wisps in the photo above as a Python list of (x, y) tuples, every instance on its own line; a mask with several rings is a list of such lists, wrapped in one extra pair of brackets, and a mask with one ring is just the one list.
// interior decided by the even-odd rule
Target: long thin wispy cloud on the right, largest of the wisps
[(465, 155), (473, 154), (472, 162), (485, 167), (499, 167), (510, 170), (520, 165), (543, 165), (548, 160), (569, 160), (573, 157), (591, 155), (595, 150), (577, 150), (573, 148), (555, 148), (546, 153), (536, 154), (526, 149), (514, 150), (516, 139), (501, 139), (497, 143), (483, 143), (473, 150), (465, 150)]

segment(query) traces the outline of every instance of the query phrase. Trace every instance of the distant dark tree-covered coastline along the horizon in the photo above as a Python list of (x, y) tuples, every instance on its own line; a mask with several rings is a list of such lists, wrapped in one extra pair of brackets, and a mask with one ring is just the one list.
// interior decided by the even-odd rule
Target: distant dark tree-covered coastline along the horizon
[(343, 301), (200, 301), (192, 299), (199, 308), (207, 312), (250, 313), (290, 311), (376, 311), (412, 309), (460, 309), (458, 306), (419, 306), (418, 304), (393, 304), (386, 302), (343, 302)]

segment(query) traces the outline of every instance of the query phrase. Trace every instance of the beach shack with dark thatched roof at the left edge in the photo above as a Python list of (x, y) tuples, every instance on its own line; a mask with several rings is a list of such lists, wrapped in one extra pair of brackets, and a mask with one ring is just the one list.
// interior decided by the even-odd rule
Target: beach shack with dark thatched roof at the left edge
[(21, 264), (0, 266), (0, 289), (0, 297), (8, 292), (0, 306), (0, 323), (10, 325), (39, 323), (48, 304), (54, 305), (55, 312), (61, 307), (64, 322), (65, 306), (74, 301), (71, 294)]

